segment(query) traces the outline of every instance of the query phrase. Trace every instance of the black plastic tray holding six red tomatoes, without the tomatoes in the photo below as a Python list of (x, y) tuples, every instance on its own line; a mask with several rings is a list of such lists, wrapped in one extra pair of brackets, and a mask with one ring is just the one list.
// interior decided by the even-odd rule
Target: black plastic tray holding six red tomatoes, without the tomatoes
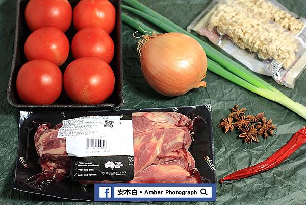
[[(79, 0), (69, 0), (72, 8), (79, 2)], [(24, 18), (25, 6), (27, 6), (27, 0), (18, 0), (17, 2), (17, 17), (16, 17), (16, 32), (14, 42), (14, 55), (11, 66), (11, 73), (8, 83), (7, 99), (10, 105), (20, 108), (22, 110), (114, 110), (123, 105), (122, 96), (122, 42), (121, 42), (121, 0), (110, 0), (110, 2), (116, 8), (116, 26), (114, 31), (110, 34), (115, 44), (115, 54), (110, 66), (115, 74), (115, 88), (113, 94), (103, 103), (95, 105), (81, 105), (75, 104), (65, 94), (64, 89), (57, 101), (52, 105), (27, 105), (24, 104), (17, 95), (16, 79), (17, 74), (21, 66), (27, 62), (24, 56), (23, 47), (27, 37), (31, 34), (28, 29)], [(73, 28), (73, 22), (65, 33), (69, 42), (76, 33)], [(74, 59), (71, 54), (71, 50), (66, 62), (60, 66), (62, 73), (64, 73), (67, 65)]]

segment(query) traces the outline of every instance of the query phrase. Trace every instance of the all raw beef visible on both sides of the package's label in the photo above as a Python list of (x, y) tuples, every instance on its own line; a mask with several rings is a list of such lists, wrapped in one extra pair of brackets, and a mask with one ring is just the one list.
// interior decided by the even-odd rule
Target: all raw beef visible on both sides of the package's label
[[(175, 112), (133, 113), (134, 179), (130, 183), (201, 183), (191, 144), (191, 120)], [(62, 124), (39, 126), (35, 147), (42, 173), (37, 181), (61, 180), (70, 171), (65, 138), (57, 138)]]

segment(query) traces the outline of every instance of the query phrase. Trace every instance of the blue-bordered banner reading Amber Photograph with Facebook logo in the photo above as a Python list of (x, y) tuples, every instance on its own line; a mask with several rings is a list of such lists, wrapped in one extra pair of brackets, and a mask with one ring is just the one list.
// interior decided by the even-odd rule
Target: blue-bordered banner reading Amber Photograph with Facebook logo
[(216, 184), (95, 184), (95, 201), (215, 201)]

